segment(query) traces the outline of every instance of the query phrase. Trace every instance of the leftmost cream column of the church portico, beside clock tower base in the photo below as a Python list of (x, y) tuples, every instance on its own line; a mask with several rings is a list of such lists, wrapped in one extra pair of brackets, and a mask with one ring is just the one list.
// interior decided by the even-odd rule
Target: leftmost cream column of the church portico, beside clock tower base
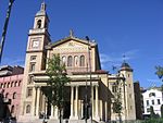
[(36, 115), (36, 87), (33, 87), (32, 115)]

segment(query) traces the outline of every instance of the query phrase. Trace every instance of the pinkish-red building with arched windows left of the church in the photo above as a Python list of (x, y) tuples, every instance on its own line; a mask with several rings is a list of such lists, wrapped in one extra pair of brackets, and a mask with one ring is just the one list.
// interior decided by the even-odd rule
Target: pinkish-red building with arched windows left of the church
[(0, 118), (18, 116), (23, 82), (22, 66), (0, 67)]

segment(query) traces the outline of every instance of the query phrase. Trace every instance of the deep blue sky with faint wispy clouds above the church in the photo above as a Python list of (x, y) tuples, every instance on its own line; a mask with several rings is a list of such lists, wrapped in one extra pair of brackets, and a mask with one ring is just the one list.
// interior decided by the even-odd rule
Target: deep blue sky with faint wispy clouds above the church
[[(114, 73), (123, 56), (134, 69), (134, 81), (160, 86), (155, 65), (163, 65), (163, 0), (45, 0), (53, 41), (68, 36), (98, 42), (102, 69)], [(9, 0), (0, 0), (0, 36)], [(15, 0), (1, 65), (24, 66), (28, 30), (42, 0)]]

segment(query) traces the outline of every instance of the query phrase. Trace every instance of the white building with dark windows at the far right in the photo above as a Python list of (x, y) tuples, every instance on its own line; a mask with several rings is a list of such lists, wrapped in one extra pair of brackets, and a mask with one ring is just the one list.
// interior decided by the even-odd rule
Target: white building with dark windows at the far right
[(147, 89), (143, 94), (145, 116), (150, 116), (150, 107), (153, 107), (154, 113), (161, 116), (161, 106), (163, 104), (162, 91), (158, 87)]

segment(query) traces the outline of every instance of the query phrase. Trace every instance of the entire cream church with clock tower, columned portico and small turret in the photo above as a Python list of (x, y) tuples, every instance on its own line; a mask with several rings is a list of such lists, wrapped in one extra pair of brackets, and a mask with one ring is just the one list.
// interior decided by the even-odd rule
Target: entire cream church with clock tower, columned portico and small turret
[[(63, 119), (70, 119), (70, 123), (84, 119), (86, 113), (84, 100), (88, 95), (88, 100), (92, 103), (92, 120), (117, 120), (118, 114), (112, 107), (118, 90), (123, 107), (122, 120), (135, 120), (133, 69), (128, 63), (122, 64), (118, 74), (109, 74), (101, 70), (97, 42), (77, 38), (72, 30), (68, 37), (51, 42), (48, 27), (49, 17), (46, 4), (42, 3), (35, 16), (34, 28), (28, 34), (18, 121), (35, 122), (40, 113), (46, 113), (50, 120), (59, 119), (58, 108), (48, 104), (42, 93), (48, 88), (46, 61), (53, 53), (60, 54), (62, 62), (66, 65), (67, 76), (71, 77), (65, 91), (67, 99), (63, 107)], [(88, 112), (90, 118), (90, 107)]]

